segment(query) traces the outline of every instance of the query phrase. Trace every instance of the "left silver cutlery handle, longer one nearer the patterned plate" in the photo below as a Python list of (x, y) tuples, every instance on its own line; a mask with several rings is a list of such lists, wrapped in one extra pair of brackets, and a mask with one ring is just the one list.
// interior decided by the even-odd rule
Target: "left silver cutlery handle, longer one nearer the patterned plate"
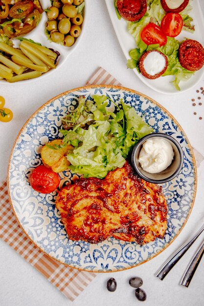
[(193, 236), (190, 240), (185, 242), (179, 250), (177, 250), (174, 254), (172, 254), (171, 257), (167, 259), (166, 262), (163, 263), (163, 265), (159, 268), (159, 270), (156, 272), (156, 276), (159, 277), (159, 279), (162, 281), (164, 277), (169, 273), (169, 271), (175, 266), (175, 264), (181, 259), (183, 254), (189, 249), (189, 247), (193, 244), (193, 242), (198, 238), (198, 236), (203, 232), (204, 230), (204, 224), (200, 228), (200, 230)]

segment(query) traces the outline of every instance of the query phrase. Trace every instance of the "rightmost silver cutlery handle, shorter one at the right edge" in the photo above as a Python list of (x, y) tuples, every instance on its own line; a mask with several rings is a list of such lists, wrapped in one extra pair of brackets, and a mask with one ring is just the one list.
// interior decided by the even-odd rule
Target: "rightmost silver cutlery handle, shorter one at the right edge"
[(189, 263), (182, 279), (181, 279), (181, 285), (188, 287), (194, 273), (196, 272), (196, 269), (199, 265), (199, 262), (202, 259), (202, 256), (204, 255), (204, 242), (202, 242), (202, 244), (200, 245), (199, 249), (197, 250), (195, 256), (193, 257), (192, 261)]

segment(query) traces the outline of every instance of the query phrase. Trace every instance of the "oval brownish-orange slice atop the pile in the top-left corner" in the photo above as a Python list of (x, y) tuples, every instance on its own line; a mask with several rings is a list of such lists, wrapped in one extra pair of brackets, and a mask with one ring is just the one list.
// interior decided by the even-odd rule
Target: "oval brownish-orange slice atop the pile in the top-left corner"
[(35, 9), (35, 5), (31, 0), (24, 0), (18, 2), (12, 6), (9, 11), (9, 16), (11, 18), (25, 18), (28, 14), (30, 14)]

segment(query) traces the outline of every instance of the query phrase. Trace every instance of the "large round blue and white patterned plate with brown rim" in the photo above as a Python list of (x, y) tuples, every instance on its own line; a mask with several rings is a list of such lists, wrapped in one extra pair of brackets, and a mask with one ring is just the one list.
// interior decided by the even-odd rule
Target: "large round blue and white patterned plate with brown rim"
[[(181, 144), (184, 164), (181, 173), (162, 185), (168, 203), (168, 227), (164, 239), (143, 246), (109, 238), (98, 244), (68, 239), (55, 207), (57, 193), (45, 195), (29, 184), (33, 169), (42, 164), (42, 146), (59, 138), (62, 118), (77, 106), (78, 97), (91, 99), (93, 94), (107, 95), (118, 103), (133, 106), (156, 132), (167, 133)], [(62, 135), (61, 135), (62, 136)], [(73, 174), (60, 174), (62, 187), (71, 183)], [(74, 175), (75, 176), (75, 175)], [(8, 189), (12, 208), (23, 231), (48, 256), (68, 266), (94, 272), (124, 270), (146, 262), (163, 251), (180, 233), (188, 219), (196, 193), (197, 174), (191, 146), (178, 122), (151, 98), (134, 90), (114, 86), (89, 86), (69, 90), (51, 99), (25, 123), (11, 152)]]

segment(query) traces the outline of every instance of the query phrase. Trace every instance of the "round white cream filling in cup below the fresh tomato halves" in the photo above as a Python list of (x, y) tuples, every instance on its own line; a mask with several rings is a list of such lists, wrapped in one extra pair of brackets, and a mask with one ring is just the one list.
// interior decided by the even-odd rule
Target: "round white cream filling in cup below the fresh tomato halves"
[(143, 61), (144, 70), (149, 75), (160, 73), (165, 66), (165, 58), (159, 52), (150, 52)]

